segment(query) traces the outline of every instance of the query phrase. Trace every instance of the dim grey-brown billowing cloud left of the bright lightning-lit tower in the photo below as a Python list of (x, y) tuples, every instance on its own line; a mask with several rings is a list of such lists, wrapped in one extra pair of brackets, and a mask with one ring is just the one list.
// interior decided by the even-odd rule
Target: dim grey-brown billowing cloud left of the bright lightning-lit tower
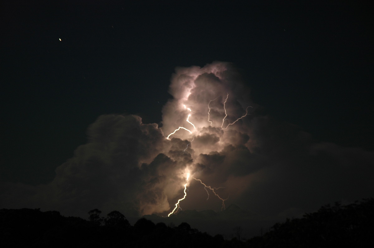
[[(142, 212), (143, 205), (148, 204), (142, 194), (153, 192), (160, 197), (158, 189), (162, 182), (154, 178), (162, 178), (160, 172), (168, 171), (176, 162), (160, 154), (166, 141), (156, 124), (143, 124), (140, 117), (132, 115), (100, 116), (89, 126), (87, 134), (88, 143), (57, 167), (51, 183), (32, 191), (23, 189), (19, 197), (27, 197), (31, 205), (79, 215), (91, 208)], [(162, 156), (165, 158), (160, 159)], [(20, 191), (16, 186), (11, 190)], [(17, 206), (16, 201), (9, 200), (12, 191), (3, 188), (4, 207)]]

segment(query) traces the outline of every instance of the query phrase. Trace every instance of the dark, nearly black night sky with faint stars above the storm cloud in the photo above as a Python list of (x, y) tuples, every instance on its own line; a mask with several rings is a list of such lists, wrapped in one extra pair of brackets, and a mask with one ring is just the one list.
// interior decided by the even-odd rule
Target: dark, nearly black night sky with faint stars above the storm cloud
[[(260, 186), (257, 192), (243, 193), (253, 196), (258, 204), (240, 197), (229, 204), (256, 213), (264, 209), (261, 215), (285, 218), (291, 213), (289, 209), (314, 211), (322, 204), (373, 197), (374, 188), (369, 183), (374, 176), (372, 7), (199, 2), (3, 5), (0, 208), (39, 204), (42, 210), (57, 208), (62, 214), (82, 215), (100, 207), (92, 202), (92, 208), (64, 212), (63, 204), (58, 209), (58, 200), (48, 205), (40, 195), (30, 198), (34, 194), (30, 192), (48, 188), (56, 168), (80, 156), (74, 151), (89, 143), (92, 130), (99, 134), (105, 129), (95, 129), (92, 123), (110, 123), (110, 114), (134, 114), (142, 123), (165, 125), (162, 108), (173, 98), (169, 85), (175, 68), (203, 68), (215, 61), (230, 63), (230, 70), (237, 72), (243, 87), (249, 89), (249, 101), (255, 106), (248, 117), (252, 130), (249, 139), (260, 147), (251, 154), (275, 156), (268, 156), (271, 163), (261, 160), (258, 164), (272, 164), (277, 158), (289, 167), (267, 167), (270, 174), (285, 176), (286, 181), (304, 176), (292, 181), (294, 184), (285, 184), (284, 192), (300, 185), (316, 190), (312, 194), (305, 186), (304, 197), (315, 197), (309, 199), (315, 203), (309, 208), (305, 207), (307, 201), (297, 205), (286, 196), (274, 199), (268, 192), (274, 185), (282, 188), (279, 179), (269, 188)], [(102, 115), (107, 117), (98, 119)], [(295, 141), (296, 132), (305, 135), (302, 144), (308, 144), (308, 152)], [(313, 155), (312, 150), (322, 155), (307, 157), (307, 153)], [(157, 159), (162, 158), (155, 158), (153, 163)], [(292, 163), (296, 172), (290, 169)], [(305, 163), (311, 166), (303, 170)], [(331, 169), (336, 166), (344, 171)], [(282, 171), (294, 174), (283, 175)], [(334, 194), (325, 194), (326, 189), (316, 179), (331, 181)], [(108, 178), (108, 182), (113, 180)], [(349, 185), (349, 189), (340, 185)], [(74, 187), (69, 189), (74, 191)], [(44, 194), (47, 197), (54, 191), (45, 192), (49, 192)], [(302, 192), (295, 197), (303, 198)], [(264, 207), (278, 202), (283, 202), (279, 208)], [(69, 203), (75, 202), (70, 199)], [(109, 209), (121, 204), (104, 205)], [(187, 201), (183, 210), (208, 209), (204, 204), (196, 208)], [(122, 212), (129, 216), (126, 209)], [(214, 210), (219, 211), (220, 205)]]

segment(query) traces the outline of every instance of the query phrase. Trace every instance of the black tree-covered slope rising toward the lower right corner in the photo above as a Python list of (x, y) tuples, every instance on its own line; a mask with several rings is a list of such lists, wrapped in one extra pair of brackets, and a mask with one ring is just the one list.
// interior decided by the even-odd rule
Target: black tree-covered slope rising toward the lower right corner
[(324, 205), (301, 219), (276, 223), (250, 247), (369, 247), (374, 245), (374, 198), (349, 205)]

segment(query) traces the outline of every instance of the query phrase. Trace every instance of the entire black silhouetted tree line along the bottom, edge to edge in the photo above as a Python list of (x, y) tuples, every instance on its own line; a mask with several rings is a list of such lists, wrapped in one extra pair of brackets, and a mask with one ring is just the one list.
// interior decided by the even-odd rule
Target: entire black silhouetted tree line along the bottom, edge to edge
[[(1, 209), (2, 247), (369, 247), (374, 245), (374, 198), (349, 205), (324, 205), (303, 218), (286, 219), (246, 241), (225, 240), (191, 228), (141, 218), (133, 226), (119, 211), (106, 217), (88, 212), (89, 220), (64, 217), (58, 211)], [(234, 232), (240, 233), (240, 227)]]

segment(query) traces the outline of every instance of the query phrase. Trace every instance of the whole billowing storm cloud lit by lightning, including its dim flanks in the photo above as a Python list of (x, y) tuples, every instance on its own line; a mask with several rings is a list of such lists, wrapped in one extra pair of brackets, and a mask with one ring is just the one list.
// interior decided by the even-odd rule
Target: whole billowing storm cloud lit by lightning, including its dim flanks
[(2, 183), (1, 207), (167, 216), (186, 192), (183, 210), (221, 211), (220, 199), (206, 200), (193, 178), (222, 187), (226, 207), (237, 204), (267, 220), (373, 196), (373, 151), (318, 143), (295, 125), (257, 115), (230, 63), (177, 68), (169, 92), (161, 127), (134, 115), (100, 116), (51, 183)]

